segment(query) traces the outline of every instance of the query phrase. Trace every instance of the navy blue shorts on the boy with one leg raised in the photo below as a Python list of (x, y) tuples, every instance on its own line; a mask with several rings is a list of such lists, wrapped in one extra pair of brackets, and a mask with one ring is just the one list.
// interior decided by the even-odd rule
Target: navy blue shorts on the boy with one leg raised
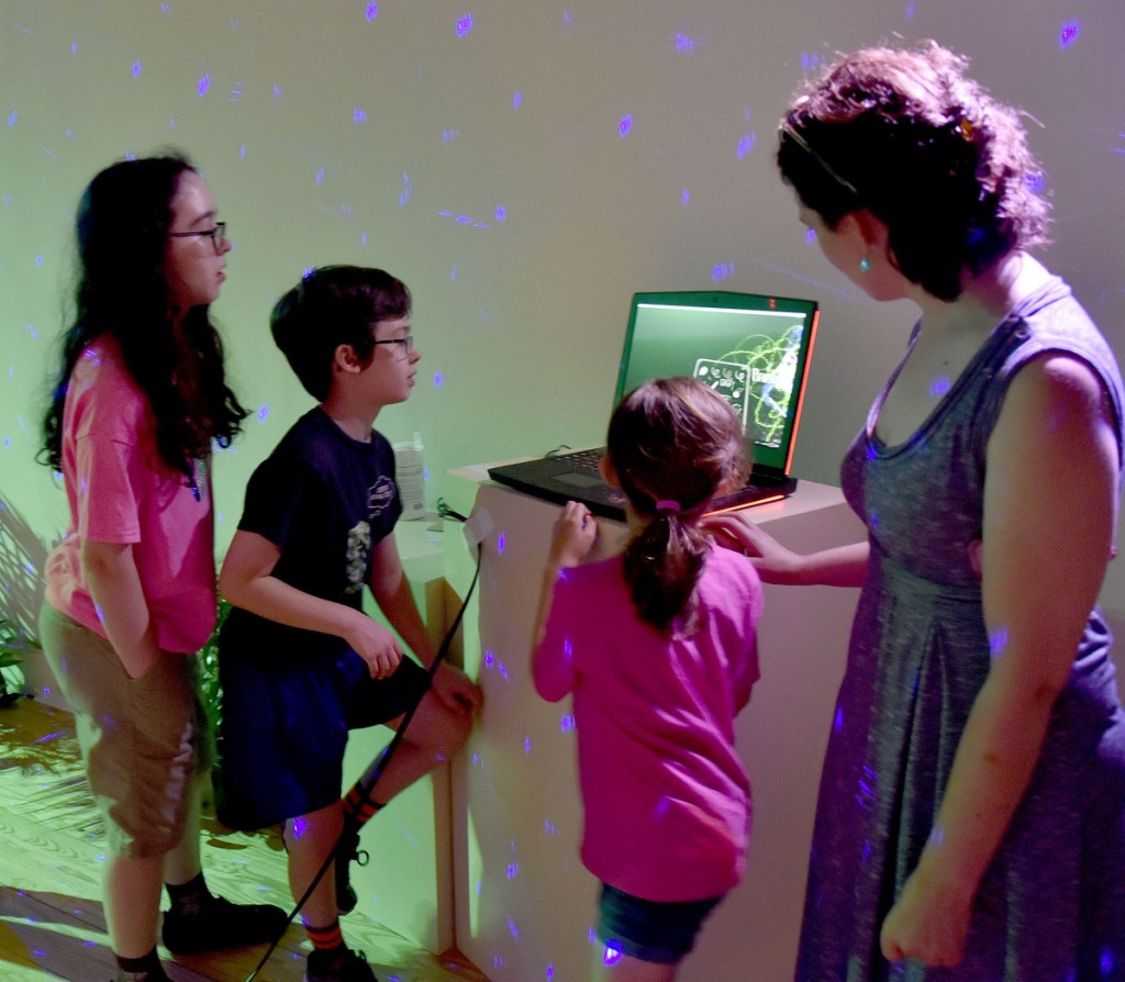
[(215, 808), (234, 829), (273, 826), (340, 799), (349, 730), (400, 717), (429, 676), (406, 657), (375, 679), (354, 651), (300, 664), (219, 657)]

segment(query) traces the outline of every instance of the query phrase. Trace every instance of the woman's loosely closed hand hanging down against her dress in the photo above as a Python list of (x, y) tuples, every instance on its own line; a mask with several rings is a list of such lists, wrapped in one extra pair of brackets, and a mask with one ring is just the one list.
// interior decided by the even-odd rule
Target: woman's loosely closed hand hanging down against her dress
[(891, 962), (916, 958), (924, 965), (953, 967), (965, 952), (972, 893), (928, 876), (924, 866), (925, 857), (886, 915), (880, 946)]

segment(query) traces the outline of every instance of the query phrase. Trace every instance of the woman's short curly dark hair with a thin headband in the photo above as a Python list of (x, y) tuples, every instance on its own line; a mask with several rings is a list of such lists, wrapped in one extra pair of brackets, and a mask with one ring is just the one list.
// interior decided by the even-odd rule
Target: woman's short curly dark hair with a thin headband
[(1050, 204), (1015, 109), (927, 42), (840, 58), (782, 120), (777, 164), (829, 228), (866, 208), (899, 270), (943, 300), (962, 273), (1048, 241)]

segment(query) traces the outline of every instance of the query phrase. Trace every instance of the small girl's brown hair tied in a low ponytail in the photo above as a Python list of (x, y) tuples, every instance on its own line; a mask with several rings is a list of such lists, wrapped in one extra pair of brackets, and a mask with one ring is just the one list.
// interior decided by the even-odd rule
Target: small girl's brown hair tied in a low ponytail
[(629, 503), (651, 519), (623, 557), (637, 614), (658, 631), (691, 633), (709, 548), (699, 519), (717, 493), (746, 476), (741, 423), (702, 382), (657, 379), (621, 400), (606, 444)]

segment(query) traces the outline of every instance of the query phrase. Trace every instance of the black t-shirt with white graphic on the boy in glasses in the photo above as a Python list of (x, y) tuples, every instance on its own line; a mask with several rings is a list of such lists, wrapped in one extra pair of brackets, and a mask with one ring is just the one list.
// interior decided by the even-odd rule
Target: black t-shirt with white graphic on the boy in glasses
[[(246, 485), (238, 529), (281, 551), (273, 576), (299, 591), (361, 609), (371, 555), (402, 514), (386, 438), (353, 440), (317, 406), (302, 416)], [(223, 625), (223, 655), (260, 663), (334, 657), (342, 638), (241, 609)]]

